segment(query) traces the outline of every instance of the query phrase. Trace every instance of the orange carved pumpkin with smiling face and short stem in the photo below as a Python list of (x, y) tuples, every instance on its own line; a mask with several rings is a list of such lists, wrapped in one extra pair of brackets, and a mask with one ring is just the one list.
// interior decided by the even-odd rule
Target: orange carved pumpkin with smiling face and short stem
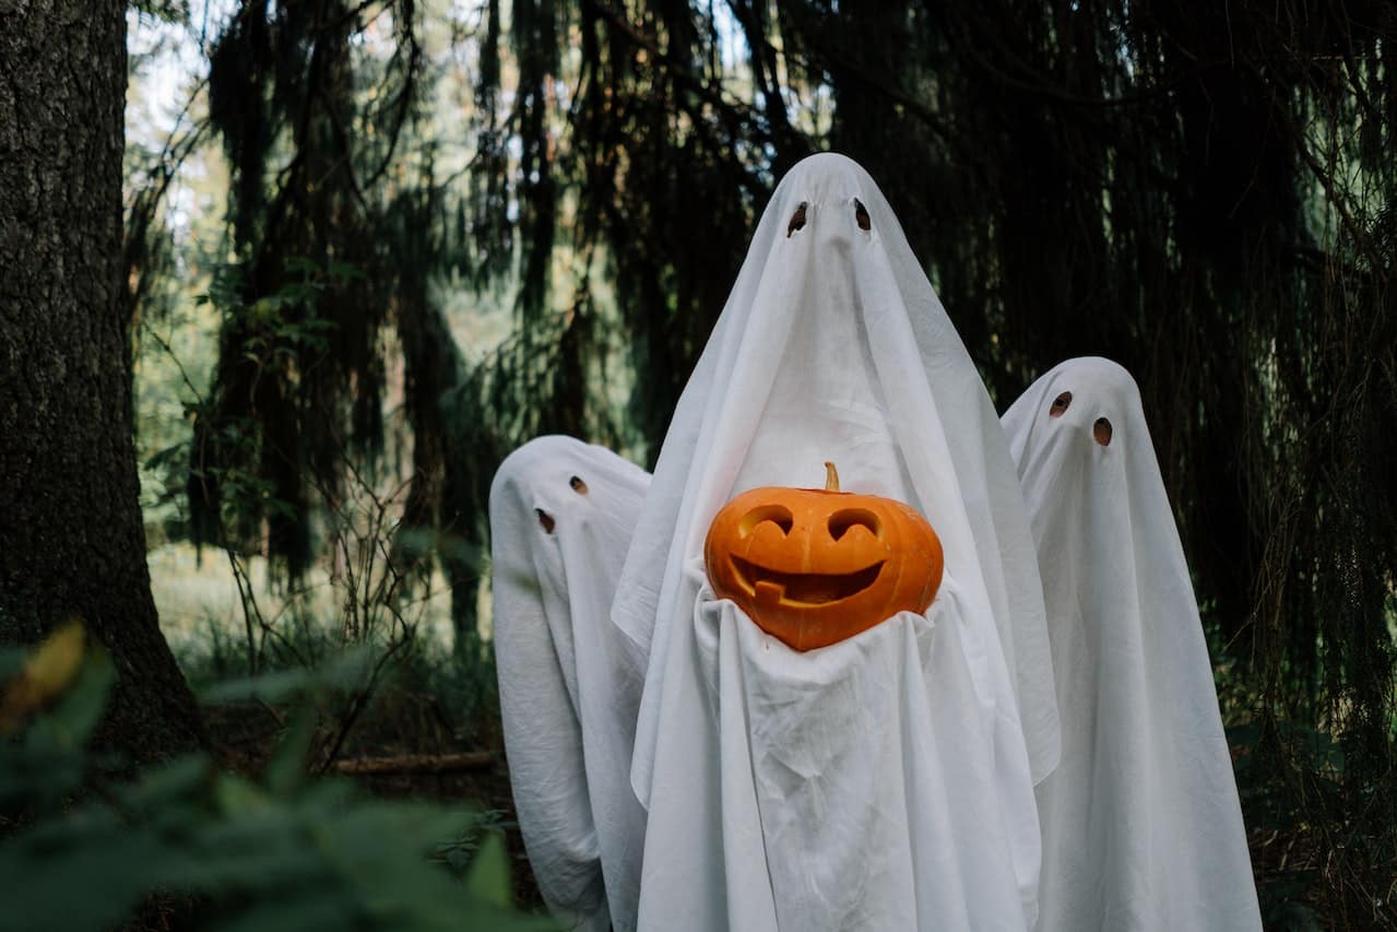
[(936, 531), (901, 502), (824, 489), (764, 488), (722, 506), (704, 562), (721, 598), (795, 650), (827, 647), (898, 612), (925, 612), (942, 584)]

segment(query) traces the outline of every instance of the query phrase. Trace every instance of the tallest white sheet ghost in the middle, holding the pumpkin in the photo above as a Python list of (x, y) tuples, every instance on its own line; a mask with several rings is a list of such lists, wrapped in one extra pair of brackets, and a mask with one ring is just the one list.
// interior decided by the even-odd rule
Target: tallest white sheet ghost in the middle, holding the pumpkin
[[(746, 489), (925, 514), (926, 616), (809, 653), (708, 588)], [(1056, 759), (1042, 594), (993, 407), (873, 180), (814, 155), (777, 187), (679, 401), (612, 616), (648, 653), (631, 780), (640, 928), (1024, 929), (1032, 778)]]

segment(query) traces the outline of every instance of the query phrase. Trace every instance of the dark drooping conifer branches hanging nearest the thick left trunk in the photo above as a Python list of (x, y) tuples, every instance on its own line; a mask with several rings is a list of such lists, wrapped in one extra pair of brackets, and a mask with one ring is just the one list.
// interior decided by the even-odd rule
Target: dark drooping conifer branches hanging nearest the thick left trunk
[[(210, 49), (210, 126), (232, 170), (226, 232), (240, 285), (194, 423), (190, 507), (196, 534), (215, 541), (204, 535), (221, 517), (218, 472), (247, 476), (267, 495), (240, 503), (236, 539), (265, 523), (268, 555), (292, 580), (316, 556), (314, 509), (337, 500), (351, 465), (372, 468), (383, 453), (384, 337), (395, 331), (408, 351), (408, 416), (422, 449), (440, 446), (433, 386), (451, 377), (425, 298), (426, 275), (444, 264), (441, 240), (429, 218), (401, 222), (437, 207), (430, 147), (400, 150), (423, 92), (416, 6), (388, 4), (391, 15), (370, 6), (249, 0)], [(352, 279), (337, 275), (349, 267)], [(326, 281), (303, 288), (320, 270)], [(430, 404), (412, 397), (419, 384)], [(219, 443), (232, 425), (251, 449)], [(427, 460), (441, 468), (439, 456)], [(422, 510), (409, 509), (409, 523), (434, 525), (414, 514)]]

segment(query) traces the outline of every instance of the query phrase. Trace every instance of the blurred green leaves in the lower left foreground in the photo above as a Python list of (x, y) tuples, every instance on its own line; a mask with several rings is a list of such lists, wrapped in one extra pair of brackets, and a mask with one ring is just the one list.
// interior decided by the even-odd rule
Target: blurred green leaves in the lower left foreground
[[(208, 694), (285, 699), (353, 679), (353, 665)], [(84, 750), (110, 680), (110, 661), (89, 654), (60, 701), (0, 745), (0, 824), (10, 824), (0, 929), (108, 929), (148, 897), (172, 896), (189, 912), (182, 928), (225, 932), (557, 928), (513, 910), (488, 813), (376, 801), (310, 778), (299, 724), (257, 781), (203, 755), (113, 777), (113, 762)]]

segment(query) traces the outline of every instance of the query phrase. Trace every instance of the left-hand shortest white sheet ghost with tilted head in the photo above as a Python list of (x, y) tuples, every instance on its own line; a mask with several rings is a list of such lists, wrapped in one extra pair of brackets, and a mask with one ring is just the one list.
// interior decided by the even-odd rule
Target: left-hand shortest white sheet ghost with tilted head
[(630, 788), (644, 669), (610, 625), (650, 475), (573, 437), (532, 440), (490, 486), (504, 749), (539, 891), (573, 928), (636, 928), (645, 812)]

